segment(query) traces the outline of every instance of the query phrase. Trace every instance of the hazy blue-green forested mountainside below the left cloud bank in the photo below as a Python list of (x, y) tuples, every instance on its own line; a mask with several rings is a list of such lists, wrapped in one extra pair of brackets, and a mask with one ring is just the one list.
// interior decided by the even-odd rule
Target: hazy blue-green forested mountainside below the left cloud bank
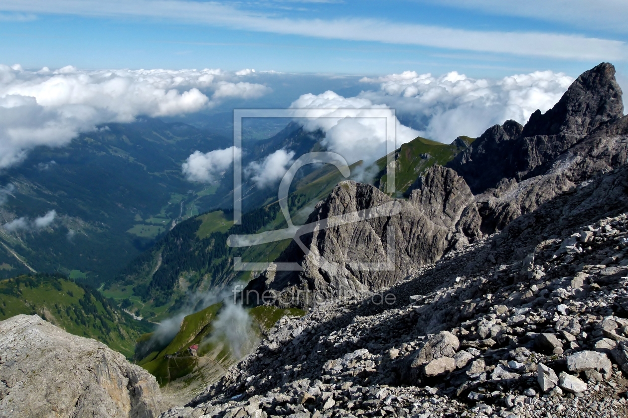
[(0, 173), (0, 278), (57, 271), (100, 286), (174, 223), (212, 207), (217, 185), (188, 182), (181, 163), (225, 142), (141, 118), (35, 149)]

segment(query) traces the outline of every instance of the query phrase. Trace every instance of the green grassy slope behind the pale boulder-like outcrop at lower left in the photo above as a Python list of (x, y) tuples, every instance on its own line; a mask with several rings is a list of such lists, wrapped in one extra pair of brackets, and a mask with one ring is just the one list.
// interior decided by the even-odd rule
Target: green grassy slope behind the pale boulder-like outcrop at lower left
[(99, 292), (60, 276), (37, 274), (0, 281), (0, 320), (24, 313), (80, 337), (94, 338), (126, 357), (136, 339), (153, 328), (119, 310)]

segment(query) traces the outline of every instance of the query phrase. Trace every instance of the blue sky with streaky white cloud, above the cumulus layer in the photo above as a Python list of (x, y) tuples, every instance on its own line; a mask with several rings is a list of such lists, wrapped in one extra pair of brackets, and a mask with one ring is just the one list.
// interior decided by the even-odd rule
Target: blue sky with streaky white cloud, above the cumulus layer
[(618, 0), (0, 1), (0, 55), (24, 68), (625, 73)]

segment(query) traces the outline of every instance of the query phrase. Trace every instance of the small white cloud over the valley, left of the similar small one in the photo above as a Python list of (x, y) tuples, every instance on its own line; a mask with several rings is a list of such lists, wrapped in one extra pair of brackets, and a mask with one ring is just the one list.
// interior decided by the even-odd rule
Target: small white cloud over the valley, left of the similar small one
[(229, 169), (234, 155), (241, 155), (242, 150), (229, 147), (203, 154), (195, 151), (182, 165), (183, 175), (193, 182), (210, 183), (217, 180)]

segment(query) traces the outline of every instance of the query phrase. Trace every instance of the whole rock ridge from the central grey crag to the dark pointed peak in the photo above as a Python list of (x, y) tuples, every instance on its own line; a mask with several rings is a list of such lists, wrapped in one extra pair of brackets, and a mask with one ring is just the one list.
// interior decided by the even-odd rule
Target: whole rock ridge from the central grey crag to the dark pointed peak
[[(575, 80), (551, 110), (535, 112), (525, 127), (507, 121), (489, 128), (448, 168), (434, 166), (421, 175), (408, 201), (367, 184), (338, 184), (308, 223), (323, 225), (328, 217), (385, 203), (398, 204), (401, 211), (304, 235), (307, 255), (292, 243), (277, 260), (296, 261), (303, 271), (266, 271), (248, 290), (288, 289), (290, 295), (380, 290), (451, 249), (504, 229), (594, 175), (626, 164), (628, 117), (614, 75), (614, 67), (602, 63)], [(355, 268), (356, 261), (386, 262), (391, 236), (393, 271)]]

